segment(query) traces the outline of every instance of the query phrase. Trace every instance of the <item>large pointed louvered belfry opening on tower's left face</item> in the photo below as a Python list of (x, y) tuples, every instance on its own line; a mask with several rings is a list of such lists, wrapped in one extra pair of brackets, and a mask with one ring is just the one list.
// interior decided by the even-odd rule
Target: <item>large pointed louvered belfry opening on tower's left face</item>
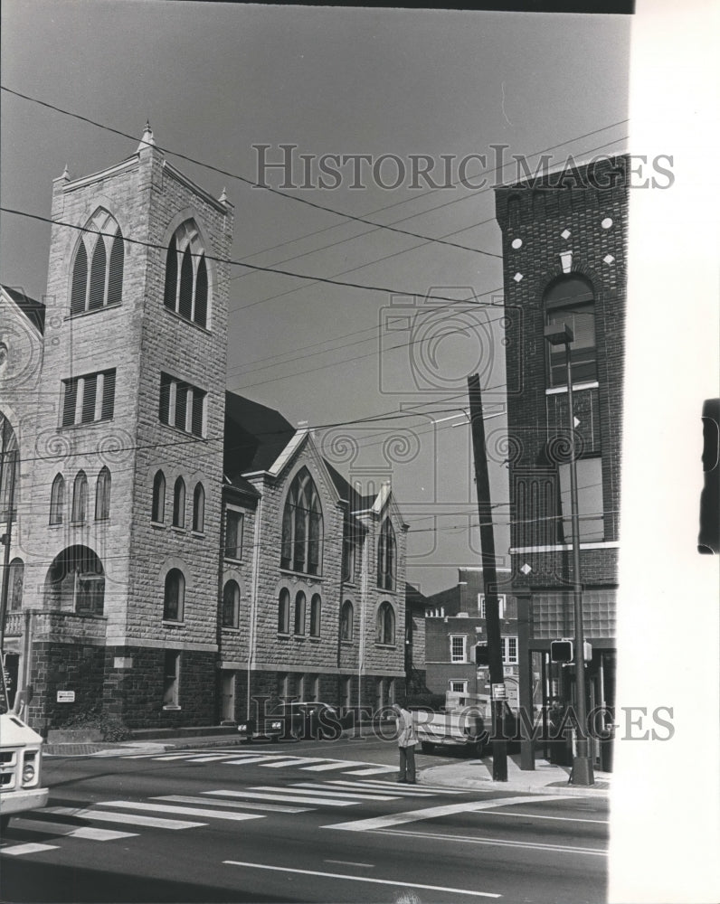
[(71, 316), (122, 301), (125, 245), (118, 222), (103, 207), (90, 217), (72, 265)]

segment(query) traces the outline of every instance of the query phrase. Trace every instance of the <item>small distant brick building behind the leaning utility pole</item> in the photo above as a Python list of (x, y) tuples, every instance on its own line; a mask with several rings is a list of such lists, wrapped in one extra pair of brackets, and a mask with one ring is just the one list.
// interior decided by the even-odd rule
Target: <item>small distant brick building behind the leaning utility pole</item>
[[(498, 569), (507, 584), (509, 572)], [(498, 593), (500, 636), (507, 702), (519, 700), (517, 605), (509, 593)], [(485, 585), (481, 568), (461, 568), (455, 587), (425, 598), (426, 683), (433, 693), (489, 693), (489, 673), (475, 664), (475, 646), (488, 643)]]

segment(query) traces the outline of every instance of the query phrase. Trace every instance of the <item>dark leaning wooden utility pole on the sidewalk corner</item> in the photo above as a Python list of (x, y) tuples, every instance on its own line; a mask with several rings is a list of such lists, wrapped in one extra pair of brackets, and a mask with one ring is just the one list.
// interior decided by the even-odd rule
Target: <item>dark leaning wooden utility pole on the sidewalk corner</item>
[(485, 588), (485, 619), (488, 626), (488, 664), (492, 706), (492, 777), (507, 782), (507, 741), (503, 732), (503, 712), (506, 705), (503, 675), (502, 639), (500, 636), (500, 607), (497, 600), (497, 570), (495, 567), (495, 536), (490, 504), (488, 453), (485, 447), (485, 423), (482, 419), (482, 394), (477, 373), (468, 377), (470, 400), (470, 429), (475, 462), (475, 489), (478, 494), (480, 518), (480, 556), (482, 581)]

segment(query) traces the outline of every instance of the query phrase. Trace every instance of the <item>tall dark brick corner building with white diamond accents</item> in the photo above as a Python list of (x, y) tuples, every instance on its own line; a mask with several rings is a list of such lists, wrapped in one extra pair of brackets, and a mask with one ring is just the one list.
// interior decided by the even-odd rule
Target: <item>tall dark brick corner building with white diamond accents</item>
[[(508, 313), (511, 580), (528, 705), (534, 676), (545, 702), (569, 703), (574, 693), (573, 669), (548, 662), (550, 642), (574, 630), (567, 378), (564, 349), (544, 338), (545, 325), (561, 322), (574, 334), (588, 705), (614, 704), (628, 184), (629, 160), (617, 156), (496, 190)], [(599, 744), (594, 756), (609, 766)]]

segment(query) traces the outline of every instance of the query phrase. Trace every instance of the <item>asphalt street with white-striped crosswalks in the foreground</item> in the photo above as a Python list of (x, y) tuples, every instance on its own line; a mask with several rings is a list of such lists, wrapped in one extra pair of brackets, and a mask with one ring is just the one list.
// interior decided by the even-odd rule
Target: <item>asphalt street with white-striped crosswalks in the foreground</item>
[[(376, 739), (46, 758), (3, 901), (602, 902), (607, 802), (395, 782)], [(554, 791), (554, 789), (553, 789)]]

